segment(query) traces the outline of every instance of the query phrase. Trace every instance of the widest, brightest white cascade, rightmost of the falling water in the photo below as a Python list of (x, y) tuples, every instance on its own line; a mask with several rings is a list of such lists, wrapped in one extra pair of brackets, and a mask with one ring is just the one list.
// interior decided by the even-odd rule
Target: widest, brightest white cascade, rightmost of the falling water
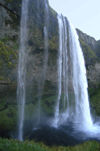
[(84, 57), (79, 44), (78, 35), (70, 23), (68, 23), (68, 30), (69, 50), (72, 62), (72, 83), (75, 95), (74, 121), (80, 125), (80, 128), (90, 129), (93, 126), (93, 121), (90, 114)]

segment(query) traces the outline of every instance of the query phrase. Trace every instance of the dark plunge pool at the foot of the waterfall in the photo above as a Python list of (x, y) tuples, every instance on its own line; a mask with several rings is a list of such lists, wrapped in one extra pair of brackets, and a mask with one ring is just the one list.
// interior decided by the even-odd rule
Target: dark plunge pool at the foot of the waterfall
[(94, 136), (93, 134), (93, 132), (85, 133), (75, 130), (72, 123), (58, 128), (42, 125), (33, 129), (29, 139), (49, 146), (74, 146), (89, 140), (100, 141), (100, 133)]

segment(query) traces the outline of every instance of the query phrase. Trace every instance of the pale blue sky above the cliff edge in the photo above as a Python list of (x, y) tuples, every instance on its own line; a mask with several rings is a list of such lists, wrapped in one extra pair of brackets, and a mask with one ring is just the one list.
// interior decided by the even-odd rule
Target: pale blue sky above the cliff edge
[(49, 0), (49, 4), (75, 28), (100, 40), (100, 0)]

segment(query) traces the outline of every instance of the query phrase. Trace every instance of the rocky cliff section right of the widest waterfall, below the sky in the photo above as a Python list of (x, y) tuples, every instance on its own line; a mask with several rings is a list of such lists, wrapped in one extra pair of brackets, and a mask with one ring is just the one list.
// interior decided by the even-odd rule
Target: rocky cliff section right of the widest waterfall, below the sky
[(100, 41), (96, 41), (79, 29), (77, 29), (77, 33), (86, 61), (89, 86), (98, 87), (100, 85)]

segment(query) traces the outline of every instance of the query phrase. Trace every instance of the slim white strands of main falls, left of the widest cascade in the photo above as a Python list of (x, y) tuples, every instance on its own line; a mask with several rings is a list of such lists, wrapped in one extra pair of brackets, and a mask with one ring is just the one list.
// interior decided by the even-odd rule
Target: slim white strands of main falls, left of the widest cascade
[[(58, 97), (57, 97), (57, 105), (55, 109), (55, 118), (53, 125), (54, 127), (58, 127), (59, 118), (60, 118), (60, 100), (62, 95), (62, 87), (64, 91), (64, 108), (66, 104), (66, 97), (68, 97), (68, 80), (66, 76), (67, 72), (67, 26), (65, 22), (65, 18), (63, 16), (58, 16), (58, 25), (59, 25), (59, 53), (58, 53)], [(64, 63), (63, 63), (64, 62)], [(62, 80), (64, 81), (64, 85), (62, 86)]]

